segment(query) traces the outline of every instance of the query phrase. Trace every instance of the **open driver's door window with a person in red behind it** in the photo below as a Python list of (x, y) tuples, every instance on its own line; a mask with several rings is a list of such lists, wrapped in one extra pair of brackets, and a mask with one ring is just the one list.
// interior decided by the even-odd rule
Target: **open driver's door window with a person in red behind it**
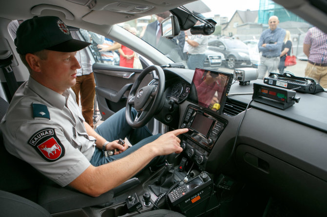
[[(136, 34), (135, 28), (130, 28), (128, 31)], [(90, 31), (80, 30), (80, 32), (85, 40), (92, 43), (90, 48), (96, 62), (127, 68), (143, 69), (139, 54), (123, 44)]]

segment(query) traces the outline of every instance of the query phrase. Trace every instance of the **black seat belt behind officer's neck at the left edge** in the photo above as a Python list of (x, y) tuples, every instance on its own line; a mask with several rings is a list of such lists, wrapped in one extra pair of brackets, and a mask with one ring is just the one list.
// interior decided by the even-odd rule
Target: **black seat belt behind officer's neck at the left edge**
[(6, 78), (9, 94), (7, 93), (8, 101), (10, 102), (13, 98), (16, 90), (19, 88), (19, 85), (16, 81), (15, 74), (11, 67), (13, 62), (13, 54), (10, 51), (0, 54), (0, 68), (2, 69), (3, 75)]

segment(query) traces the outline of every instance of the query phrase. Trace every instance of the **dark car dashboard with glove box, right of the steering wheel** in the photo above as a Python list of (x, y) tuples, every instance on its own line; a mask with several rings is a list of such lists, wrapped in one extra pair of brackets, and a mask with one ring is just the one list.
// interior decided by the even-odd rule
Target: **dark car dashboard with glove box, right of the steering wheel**
[[(241, 105), (243, 110), (230, 114), (224, 109), (219, 114), (203, 110), (184, 95), (194, 71), (164, 72), (166, 100), (174, 97), (179, 104), (179, 112), (171, 113), (178, 126), (166, 124), (190, 129), (181, 137), (184, 157), (214, 176), (241, 176), (294, 207), (301, 205), (318, 215), (327, 212), (323, 202), (327, 192), (326, 92), (297, 92), (300, 102), (281, 110), (252, 102), (253, 84), (234, 84), (225, 108)], [(314, 103), (317, 100), (321, 107)]]

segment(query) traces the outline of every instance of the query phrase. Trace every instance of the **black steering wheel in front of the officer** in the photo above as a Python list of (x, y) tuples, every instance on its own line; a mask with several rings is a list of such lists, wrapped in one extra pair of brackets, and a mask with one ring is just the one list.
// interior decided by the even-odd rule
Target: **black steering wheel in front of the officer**
[[(147, 85), (137, 91), (143, 78), (152, 71), (156, 71), (159, 76), (158, 85)], [(140, 128), (150, 121), (161, 104), (164, 80), (163, 69), (159, 66), (149, 66), (141, 72), (128, 94), (125, 113), (127, 124), (133, 128)], [(135, 118), (133, 118), (134, 115), (131, 111), (132, 105), (138, 112)]]

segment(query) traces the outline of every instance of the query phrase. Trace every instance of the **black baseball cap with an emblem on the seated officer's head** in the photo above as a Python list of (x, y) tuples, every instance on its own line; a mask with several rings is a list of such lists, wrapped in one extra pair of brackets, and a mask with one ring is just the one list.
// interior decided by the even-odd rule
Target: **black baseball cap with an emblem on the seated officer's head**
[(74, 39), (66, 24), (55, 16), (34, 17), (20, 24), (15, 45), (19, 54), (41, 50), (75, 52), (91, 43)]

